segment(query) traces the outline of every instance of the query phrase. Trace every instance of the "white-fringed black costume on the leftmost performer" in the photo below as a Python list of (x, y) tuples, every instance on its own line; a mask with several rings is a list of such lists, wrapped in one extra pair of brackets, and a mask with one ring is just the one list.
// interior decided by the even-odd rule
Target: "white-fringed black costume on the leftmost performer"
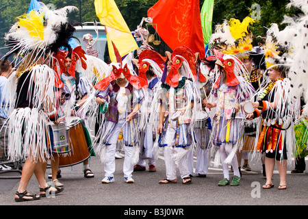
[[(8, 132), (8, 159), (17, 161), (31, 155), (34, 162), (44, 162), (45, 155), (49, 157), (47, 118), (55, 112), (45, 112), (44, 107), (53, 105), (54, 74), (49, 66), (38, 64), (21, 74), (16, 90), (9, 90), (14, 94), (8, 94), (13, 99), (7, 101), (12, 103), (5, 130)], [(9, 81), (14, 83), (13, 79), (15, 75), (11, 75)], [(10, 83), (6, 86), (10, 87)]]

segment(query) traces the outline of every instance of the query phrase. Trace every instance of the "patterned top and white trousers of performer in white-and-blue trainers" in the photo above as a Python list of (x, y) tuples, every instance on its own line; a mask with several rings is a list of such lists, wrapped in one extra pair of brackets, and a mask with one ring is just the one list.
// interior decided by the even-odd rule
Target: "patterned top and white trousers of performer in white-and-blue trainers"
[[(117, 86), (117, 90), (114, 88)], [(138, 114), (129, 122), (126, 117), (133, 107), (140, 104), (144, 98), (141, 90), (136, 90), (129, 81), (125, 87), (120, 87), (113, 81), (106, 90), (98, 92), (97, 96), (111, 100), (105, 119), (99, 129), (100, 142), (96, 152), (100, 155), (101, 162), (105, 164), (105, 177), (114, 177), (116, 143), (122, 129), (125, 144), (125, 161), (123, 164), (124, 177), (131, 177), (133, 166), (138, 162), (140, 150), (140, 134), (138, 131)], [(132, 108), (133, 108), (132, 107)]]

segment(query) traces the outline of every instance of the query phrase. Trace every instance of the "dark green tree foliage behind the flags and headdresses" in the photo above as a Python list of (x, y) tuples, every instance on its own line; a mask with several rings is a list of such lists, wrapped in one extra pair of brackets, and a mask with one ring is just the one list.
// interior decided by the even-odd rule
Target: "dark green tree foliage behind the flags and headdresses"
[[(62, 8), (66, 5), (75, 5), (79, 8), (79, 1), (81, 8), (79, 12), (73, 12), (68, 15), (72, 20), (81, 18), (81, 23), (86, 21), (93, 21), (97, 18), (94, 8), (94, 0), (41, 0), (45, 5), (49, 5), (55, 8)], [(135, 30), (137, 25), (140, 24), (142, 17), (147, 16), (147, 11), (153, 6), (157, 0), (115, 0), (123, 18), (127, 22), (131, 31)], [(202, 8), (203, 2), (200, 1), (200, 8)], [(5, 32), (8, 32), (14, 20), (17, 16), (27, 13), (30, 0), (0, 0), (0, 36), (4, 36)], [(230, 18), (238, 18), (242, 21), (246, 16), (251, 16), (256, 12), (252, 8), (253, 4), (259, 5), (259, 20), (253, 27), (253, 33), (255, 35), (263, 35), (264, 21), (265, 26), (270, 27), (271, 23), (278, 23), (281, 27), (281, 21), (283, 16), (294, 16), (299, 11), (295, 9), (286, 10), (285, 6), (289, 3), (288, 0), (215, 0), (214, 1), (214, 13), (213, 13), (213, 29), (215, 25), (218, 25)], [(79, 18), (80, 16), (80, 18)], [(1, 40), (1, 45), (3, 40)], [(2, 47), (2, 46), (0, 46)]]

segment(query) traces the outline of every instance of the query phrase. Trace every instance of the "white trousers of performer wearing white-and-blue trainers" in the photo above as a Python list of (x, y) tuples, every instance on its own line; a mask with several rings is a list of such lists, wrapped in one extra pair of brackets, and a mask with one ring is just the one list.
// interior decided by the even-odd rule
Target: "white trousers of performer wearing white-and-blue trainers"
[[(120, 134), (120, 129), (125, 123), (125, 119), (118, 120), (116, 126), (112, 130), (112, 136), (108, 140), (105, 162), (105, 177), (114, 177), (114, 171), (116, 170), (116, 143), (118, 142), (118, 136)], [(125, 129), (122, 129), (123, 138), (125, 136)], [(125, 158), (123, 162), (123, 173), (124, 177), (131, 177), (133, 172), (133, 146), (124, 146), (125, 148)]]

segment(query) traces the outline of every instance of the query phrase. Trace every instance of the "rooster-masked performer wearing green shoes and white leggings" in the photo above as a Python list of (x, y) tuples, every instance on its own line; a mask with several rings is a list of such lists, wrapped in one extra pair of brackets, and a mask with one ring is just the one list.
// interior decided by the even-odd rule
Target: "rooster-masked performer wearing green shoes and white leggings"
[[(237, 57), (224, 55), (216, 49), (214, 49), (214, 54), (217, 58), (218, 75), (213, 86), (213, 94), (217, 101), (207, 102), (206, 107), (216, 107), (211, 138), (213, 144), (219, 146), (216, 156), (220, 156), (224, 175), (218, 185), (237, 186), (240, 184), (241, 177), (235, 153), (242, 144), (244, 134), (244, 129), (241, 128), (244, 125), (243, 118), (245, 118), (242, 104), (253, 96), (255, 90), (251, 83), (242, 77), (242, 62)], [(231, 183), (228, 164), (231, 164), (234, 170)]]

